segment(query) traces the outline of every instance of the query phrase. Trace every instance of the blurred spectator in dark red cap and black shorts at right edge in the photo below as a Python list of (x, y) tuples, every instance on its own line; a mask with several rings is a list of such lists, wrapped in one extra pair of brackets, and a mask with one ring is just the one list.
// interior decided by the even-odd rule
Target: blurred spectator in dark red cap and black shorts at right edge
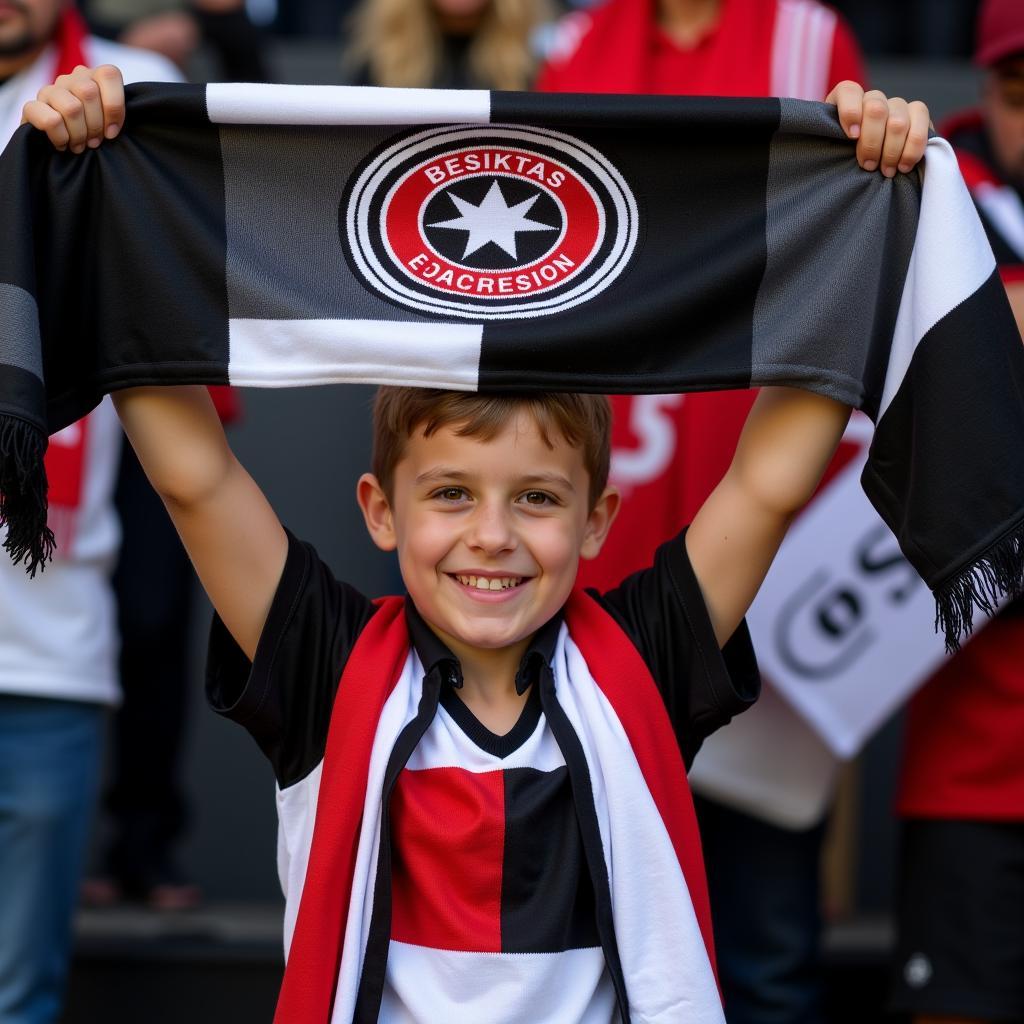
[[(1024, 328), (1024, 3), (982, 5), (980, 106), (940, 125)], [(983, 400), (983, 399), (982, 399)], [(910, 705), (894, 1001), (916, 1024), (1024, 1020), (1024, 600)]]

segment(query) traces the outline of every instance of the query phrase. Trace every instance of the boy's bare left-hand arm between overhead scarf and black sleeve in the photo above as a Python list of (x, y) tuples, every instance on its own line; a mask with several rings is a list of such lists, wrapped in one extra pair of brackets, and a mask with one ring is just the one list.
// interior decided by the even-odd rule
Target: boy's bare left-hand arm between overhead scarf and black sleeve
[(114, 403), (213, 606), (252, 659), (288, 555), (270, 503), (228, 446), (205, 387), (130, 388)]

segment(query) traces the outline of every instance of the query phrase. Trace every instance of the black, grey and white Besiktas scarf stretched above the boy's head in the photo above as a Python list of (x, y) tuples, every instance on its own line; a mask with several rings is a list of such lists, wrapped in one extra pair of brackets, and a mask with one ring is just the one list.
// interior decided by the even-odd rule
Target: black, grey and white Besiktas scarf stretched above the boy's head
[(118, 388), (780, 384), (874, 422), (864, 489), (948, 646), (1020, 592), (1024, 352), (942, 139), (889, 180), (800, 100), (128, 95), (115, 142), (25, 128), (0, 161), (0, 516), (30, 570), (46, 435)]

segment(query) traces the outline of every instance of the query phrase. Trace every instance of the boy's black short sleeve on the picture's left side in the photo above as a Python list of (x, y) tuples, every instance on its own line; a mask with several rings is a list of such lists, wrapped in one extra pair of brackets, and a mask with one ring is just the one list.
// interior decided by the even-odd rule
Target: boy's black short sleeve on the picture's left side
[(245, 726), (284, 788), (323, 760), (341, 673), (376, 605), (339, 583), (308, 544), (288, 535), (288, 559), (250, 662), (214, 615), (206, 693)]

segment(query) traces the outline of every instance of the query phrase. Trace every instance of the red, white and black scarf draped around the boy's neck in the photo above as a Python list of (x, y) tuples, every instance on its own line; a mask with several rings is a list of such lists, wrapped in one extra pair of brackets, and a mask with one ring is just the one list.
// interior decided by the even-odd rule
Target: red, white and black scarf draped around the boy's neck
[[(335, 698), (308, 858), (289, 871), (303, 881), (274, 1024), (373, 1024), (380, 1012), (387, 795), (436, 714), (439, 682), (431, 691), (431, 675), (409, 657), (404, 601), (378, 604)], [(622, 1021), (724, 1024), (693, 802), (646, 665), (575, 591), (538, 685), (571, 779)]]

